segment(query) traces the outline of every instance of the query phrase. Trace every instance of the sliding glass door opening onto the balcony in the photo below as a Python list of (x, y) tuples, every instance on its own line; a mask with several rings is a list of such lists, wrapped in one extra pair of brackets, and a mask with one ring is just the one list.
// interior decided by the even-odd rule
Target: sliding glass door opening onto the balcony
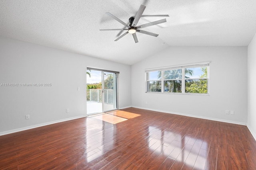
[(87, 68), (87, 115), (118, 109), (118, 73)]

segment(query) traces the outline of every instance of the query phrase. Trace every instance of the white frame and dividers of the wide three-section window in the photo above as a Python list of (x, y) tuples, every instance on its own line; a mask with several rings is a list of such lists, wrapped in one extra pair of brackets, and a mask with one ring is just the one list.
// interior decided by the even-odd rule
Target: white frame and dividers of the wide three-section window
[[(198, 68), (198, 67), (207, 67), (207, 77), (206, 78), (185, 78), (185, 68)], [(164, 92), (164, 81), (167, 81), (169, 79), (164, 80), (164, 76), (161, 76), (161, 92), (149, 92), (148, 91), (148, 82), (153, 80), (148, 80), (149, 72), (154, 71), (161, 71), (161, 75), (164, 75), (164, 71), (166, 70), (176, 70), (181, 69), (182, 70), (182, 77), (181, 79), (170, 79), (170, 80), (181, 80), (181, 92)], [(166, 67), (160, 67), (160, 68), (148, 68), (145, 69), (145, 82), (146, 82), (146, 92), (145, 93), (159, 93), (159, 94), (182, 94), (182, 95), (203, 95), (203, 96), (209, 96), (210, 95), (210, 61), (202, 62), (202, 63), (192, 63), (192, 64), (183, 64), (183, 65), (176, 65), (176, 66), (166, 66)], [(189, 93), (185, 92), (185, 80), (200, 80), (200, 79), (206, 79), (207, 80), (207, 93)]]

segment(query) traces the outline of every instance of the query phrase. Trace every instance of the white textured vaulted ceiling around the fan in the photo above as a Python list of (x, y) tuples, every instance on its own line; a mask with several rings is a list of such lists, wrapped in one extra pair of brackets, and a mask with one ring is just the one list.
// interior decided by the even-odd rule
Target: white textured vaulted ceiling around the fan
[[(140, 4), (166, 23), (114, 41)], [(138, 25), (163, 18), (141, 18)], [(134, 64), (169, 46), (247, 46), (256, 33), (256, 0), (0, 0), (0, 36)], [(120, 35), (120, 34), (119, 34)]]

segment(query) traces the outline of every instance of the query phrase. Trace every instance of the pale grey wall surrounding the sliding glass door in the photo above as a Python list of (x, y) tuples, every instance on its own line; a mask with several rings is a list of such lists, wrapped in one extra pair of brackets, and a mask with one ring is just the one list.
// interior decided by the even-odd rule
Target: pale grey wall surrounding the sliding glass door
[(52, 84), (0, 86), (0, 135), (85, 117), (87, 67), (119, 71), (119, 107), (131, 106), (131, 66), (0, 37), (0, 84)]

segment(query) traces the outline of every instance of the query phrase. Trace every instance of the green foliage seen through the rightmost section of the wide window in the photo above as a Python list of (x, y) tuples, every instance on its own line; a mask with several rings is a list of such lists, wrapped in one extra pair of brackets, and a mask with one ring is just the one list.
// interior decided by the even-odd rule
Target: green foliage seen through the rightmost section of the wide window
[[(201, 70), (204, 72), (204, 74), (202, 74), (200, 76), (200, 78), (206, 78), (207, 77), (207, 67), (202, 67)], [(208, 92), (207, 79), (187, 81), (185, 92), (189, 92), (189, 93), (207, 93)]]

